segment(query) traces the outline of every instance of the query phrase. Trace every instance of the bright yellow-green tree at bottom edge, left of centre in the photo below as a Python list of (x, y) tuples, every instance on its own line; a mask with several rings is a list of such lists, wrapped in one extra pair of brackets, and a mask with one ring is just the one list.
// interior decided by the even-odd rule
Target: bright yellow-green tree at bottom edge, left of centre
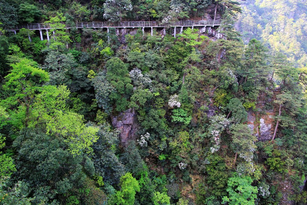
[(116, 192), (114, 201), (111, 202), (111, 204), (134, 204), (135, 194), (140, 191), (138, 181), (131, 175), (131, 173), (126, 173), (120, 178), (120, 186), (120, 191)]

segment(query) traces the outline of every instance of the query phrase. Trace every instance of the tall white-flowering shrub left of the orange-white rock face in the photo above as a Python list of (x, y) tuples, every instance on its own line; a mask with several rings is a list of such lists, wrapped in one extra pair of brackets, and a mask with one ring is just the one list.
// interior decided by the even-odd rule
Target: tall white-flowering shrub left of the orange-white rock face
[(210, 151), (214, 153), (220, 149), (220, 136), (224, 129), (229, 126), (230, 121), (227, 120), (223, 115), (212, 116), (210, 121), (211, 124), (209, 127), (209, 136), (211, 137), (212, 142), (212, 147), (210, 148)]

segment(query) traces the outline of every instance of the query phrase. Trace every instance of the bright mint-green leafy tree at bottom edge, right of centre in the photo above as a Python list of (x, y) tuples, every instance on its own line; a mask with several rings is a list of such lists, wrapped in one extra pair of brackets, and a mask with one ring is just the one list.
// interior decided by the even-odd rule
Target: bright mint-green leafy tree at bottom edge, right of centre
[(254, 205), (257, 199), (257, 187), (251, 185), (249, 176), (230, 177), (227, 181), (227, 192), (229, 196), (223, 197), (223, 204), (229, 205)]

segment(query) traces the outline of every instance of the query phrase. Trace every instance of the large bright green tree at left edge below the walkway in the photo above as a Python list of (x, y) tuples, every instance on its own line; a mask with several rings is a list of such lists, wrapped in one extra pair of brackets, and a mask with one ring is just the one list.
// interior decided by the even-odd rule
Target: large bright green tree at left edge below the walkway
[(6, 82), (2, 86), (9, 97), (1, 101), (1, 106), (6, 109), (7, 123), (17, 128), (28, 126), (30, 106), (35, 93), (40, 90), (39, 85), (49, 81), (46, 71), (33, 67), (32, 61), (22, 59), (16, 64), (11, 64), (11, 71), (6, 75)]

